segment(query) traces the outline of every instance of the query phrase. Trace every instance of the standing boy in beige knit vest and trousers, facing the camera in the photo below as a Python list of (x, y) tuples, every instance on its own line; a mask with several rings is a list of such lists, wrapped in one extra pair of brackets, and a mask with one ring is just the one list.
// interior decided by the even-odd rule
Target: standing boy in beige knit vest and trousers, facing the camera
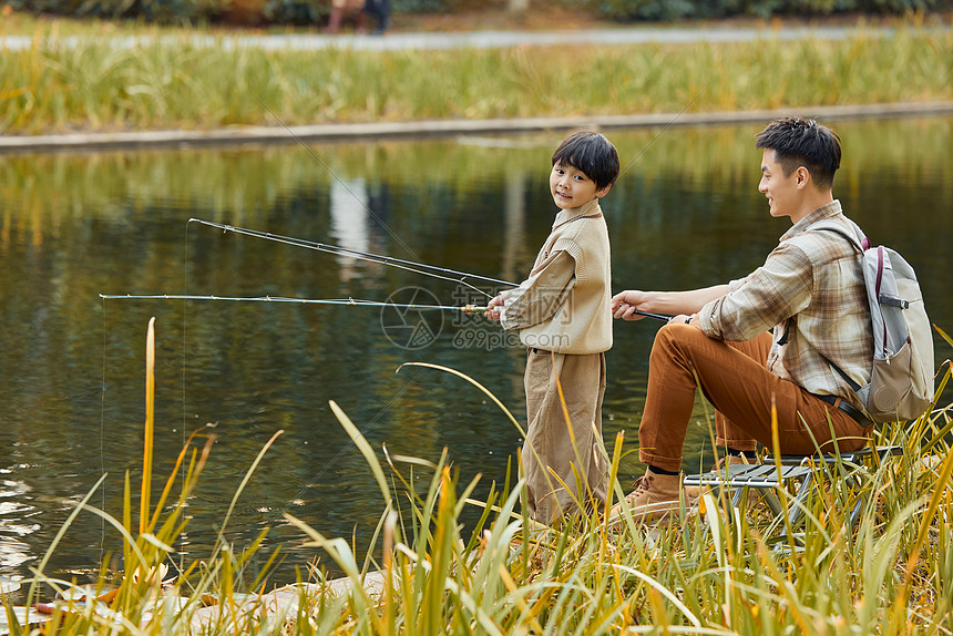
[(486, 311), (504, 329), (519, 329), (529, 349), (522, 460), (529, 515), (545, 524), (576, 502), (605, 507), (602, 401), (612, 295), (608, 230), (598, 199), (619, 172), (615, 146), (592, 132), (570, 135), (552, 162), (550, 193), (560, 208), (553, 229), (530, 277), (493, 298)]

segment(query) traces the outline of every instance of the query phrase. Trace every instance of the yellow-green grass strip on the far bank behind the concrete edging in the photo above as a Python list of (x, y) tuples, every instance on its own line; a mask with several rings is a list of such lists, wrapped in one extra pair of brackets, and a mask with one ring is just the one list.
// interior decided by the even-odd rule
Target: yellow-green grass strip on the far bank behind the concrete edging
[(914, 27), (842, 41), (452, 51), (263, 51), (185, 34), (57, 42), (0, 58), (3, 134), (953, 99), (953, 32)]

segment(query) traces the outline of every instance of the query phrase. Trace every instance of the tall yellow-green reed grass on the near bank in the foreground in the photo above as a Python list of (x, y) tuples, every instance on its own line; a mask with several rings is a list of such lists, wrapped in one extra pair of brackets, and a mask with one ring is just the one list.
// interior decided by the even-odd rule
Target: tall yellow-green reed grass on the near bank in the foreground
[[(429, 367), (485, 392), (459, 372)], [(950, 382), (951, 365), (941, 371), (937, 396)], [(783, 524), (769, 522), (756, 506), (732, 510), (719, 493), (705, 494), (704, 512), (688, 513), (670, 526), (645, 529), (631, 519), (612, 526), (593, 514), (542, 527), (519, 512), (521, 482), (508, 478), (502, 486), (493, 485), (485, 501), (473, 500), (480, 478), (459, 483), (445, 452), (433, 463), (385, 450), (382, 462), (347, 414), (331, 407), (380, 489), (377, 547), (361, 555), (345, 538), (286, 519), (335, 562), (344, 579), (331, 582), (315, 573), (310, 581), (284, 588), (283, 603), (275, 604), (278, 593), (270, 591), (267, 578), (249, 586), (243, 572), (260, 543), (237, 554), (223, 532), (209, 557), (180, 564), (171, 587), (160, 588), (148, 576), (134, 582), (132, 572), (147, 572), (175, 557), (172, 545), (185, 523), (182, 509), (211, 449), (205, 443), (201, 451), (189, 451), (193, 438), (156, 510), (191, 453), (182, 495), (151, 516), (145, 532), (133, 532), (129, 478), (121, 521), (90, 506), (89, 496), (76, 506), (50, 551), (78, 514), (95, 513), (124, 537), (125, 571), (107, 605), (60, 604), (47, 632), (950, 634), (953, 407), (914, 422), (880, 427), (874, 442), (903, 444), (906, 453), (874, 461), (869, 476), (851, 492), (841, 476), (844, 466), (818, 469), (828, 471), (827, 485), (806, 504), (803, 527), (786, 534)], [(275, 438), (249, 468), (236, 499)], [(623, 441), (619, 434), (606, 455), (611, 492), (617, 497), (624, 494), (616, 479)], [(427, 479), (418, 479), (422, 476)], [(857, 501), (862, 506), (860, 523), (852, 529), (848, 514)], [(464, 532), (460, 517), (467, 506), (479, 506), (483, 514)], [(69, 582), (43, 573), (48, 557), (29, 583), (69, 587)], [(105, 581), (103, 568), (100, 589)], [(202, 607), (209, 596), (217, 605)], [(25, 629), (11, 625), (14, 634)]]

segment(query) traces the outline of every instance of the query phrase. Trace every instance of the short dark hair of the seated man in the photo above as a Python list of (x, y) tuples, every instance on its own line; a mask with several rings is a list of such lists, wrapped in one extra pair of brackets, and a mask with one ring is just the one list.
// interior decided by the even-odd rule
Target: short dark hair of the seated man
[(840, 137), (829, 127), (805, 117), (781, 117), (755, 135), (755, 147), (775, 151), (785, 176), (808, 168), (814, 185), (831, 187), (840, 167)]

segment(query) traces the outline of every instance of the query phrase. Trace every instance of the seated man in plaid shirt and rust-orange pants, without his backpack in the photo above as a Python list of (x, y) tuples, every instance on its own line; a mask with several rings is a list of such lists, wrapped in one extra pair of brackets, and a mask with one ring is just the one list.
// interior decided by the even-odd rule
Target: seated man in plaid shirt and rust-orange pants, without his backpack
[[(870, 310), (857, 249), (821, 219), (851, 233), (833, 177), (840, 139), (813, 120), (783, 117), (757, 135), (764, 150), (758, 189), (771, 216), (793, 223), (765, 265), (739, 280), (690, 291), (623, 291), (615, 318), (635, 310), (675, 315), (649, 357), (648, 392), (638, 430), (645, 476), (626, 501), (637, 521), (679, 510), (683, 443), (696, 387), (715, 407), (717, 443), (729, 463), (771, 445), (772, 408), (783, 453), (861, 448), (872, 424), (833, 370), (870, 381)], [(768, 329), (773, 327), (773, 336)], [(696, 380), (697, 379), (697, 380)], [(614, 509), (618, 514), (618, 506)]]

